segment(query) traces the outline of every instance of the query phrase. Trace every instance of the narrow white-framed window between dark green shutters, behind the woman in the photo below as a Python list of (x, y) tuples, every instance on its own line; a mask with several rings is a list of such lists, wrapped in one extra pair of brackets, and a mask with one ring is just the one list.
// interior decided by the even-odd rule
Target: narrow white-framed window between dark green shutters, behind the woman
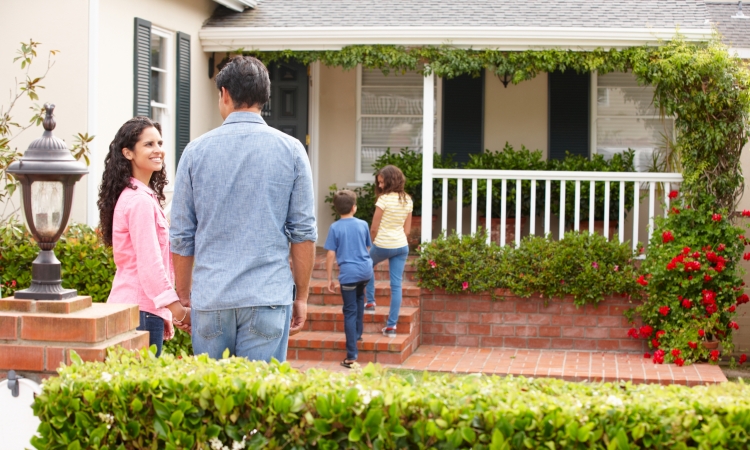
[[(174, 33), (151, 27), (151, 118), (161, 124), (163, 149), (170, 159), (174, 152)], [(167, 161), (169, 179), (173, 179), (174, 161)]]

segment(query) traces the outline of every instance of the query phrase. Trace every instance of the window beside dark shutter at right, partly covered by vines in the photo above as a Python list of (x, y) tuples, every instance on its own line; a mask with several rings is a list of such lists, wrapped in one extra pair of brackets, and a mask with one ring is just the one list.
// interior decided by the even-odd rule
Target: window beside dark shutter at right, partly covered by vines
[(635, 170), (646, 172), (674, 135), (674, 119), (660, 118), (653, 104), (653, 86), (639, 86), (632, 73), (593, 75), (596, 101), (592, 102), (593, 153), (609, 159), (628, 149), (635, 151)]

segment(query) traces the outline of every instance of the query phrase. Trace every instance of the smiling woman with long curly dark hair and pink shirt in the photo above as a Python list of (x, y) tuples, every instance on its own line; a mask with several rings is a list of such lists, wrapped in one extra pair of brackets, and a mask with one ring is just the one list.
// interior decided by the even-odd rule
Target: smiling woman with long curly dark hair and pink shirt
[(184, 329), (190, 324), (190, 308), (174, 290), (161, 146), (161, 125), (147, 117), (125, 122), (104, 159), (97, 202), (102, 238), (117, 265), (107, 302), (138, 305), (138, 330), (148, 331), (156, 356), (174, 335), (173, 321)]

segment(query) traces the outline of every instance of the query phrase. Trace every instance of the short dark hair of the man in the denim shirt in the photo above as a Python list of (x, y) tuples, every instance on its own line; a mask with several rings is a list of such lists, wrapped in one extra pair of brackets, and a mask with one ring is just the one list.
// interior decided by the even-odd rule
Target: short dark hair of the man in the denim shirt
[(216, 75), (216, 88), (225, 88), (235, 109), (263, 107), (271, 96), (268, 69), (252, 56), (235, 56)]

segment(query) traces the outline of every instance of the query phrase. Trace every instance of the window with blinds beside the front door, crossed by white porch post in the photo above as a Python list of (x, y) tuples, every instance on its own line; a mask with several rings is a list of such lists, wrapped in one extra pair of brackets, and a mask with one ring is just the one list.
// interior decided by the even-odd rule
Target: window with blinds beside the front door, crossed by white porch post
[[(372, 179), (372, 164), (386, 149), (422, 152), (424, 77), (417, 72), (383, 75), (379, 69), (358, 71), (357, 181)], [(436, 93), (439, 92), (436, 85)], [(440, 98), (435, 101), (435, 146), (439, 151)]]

